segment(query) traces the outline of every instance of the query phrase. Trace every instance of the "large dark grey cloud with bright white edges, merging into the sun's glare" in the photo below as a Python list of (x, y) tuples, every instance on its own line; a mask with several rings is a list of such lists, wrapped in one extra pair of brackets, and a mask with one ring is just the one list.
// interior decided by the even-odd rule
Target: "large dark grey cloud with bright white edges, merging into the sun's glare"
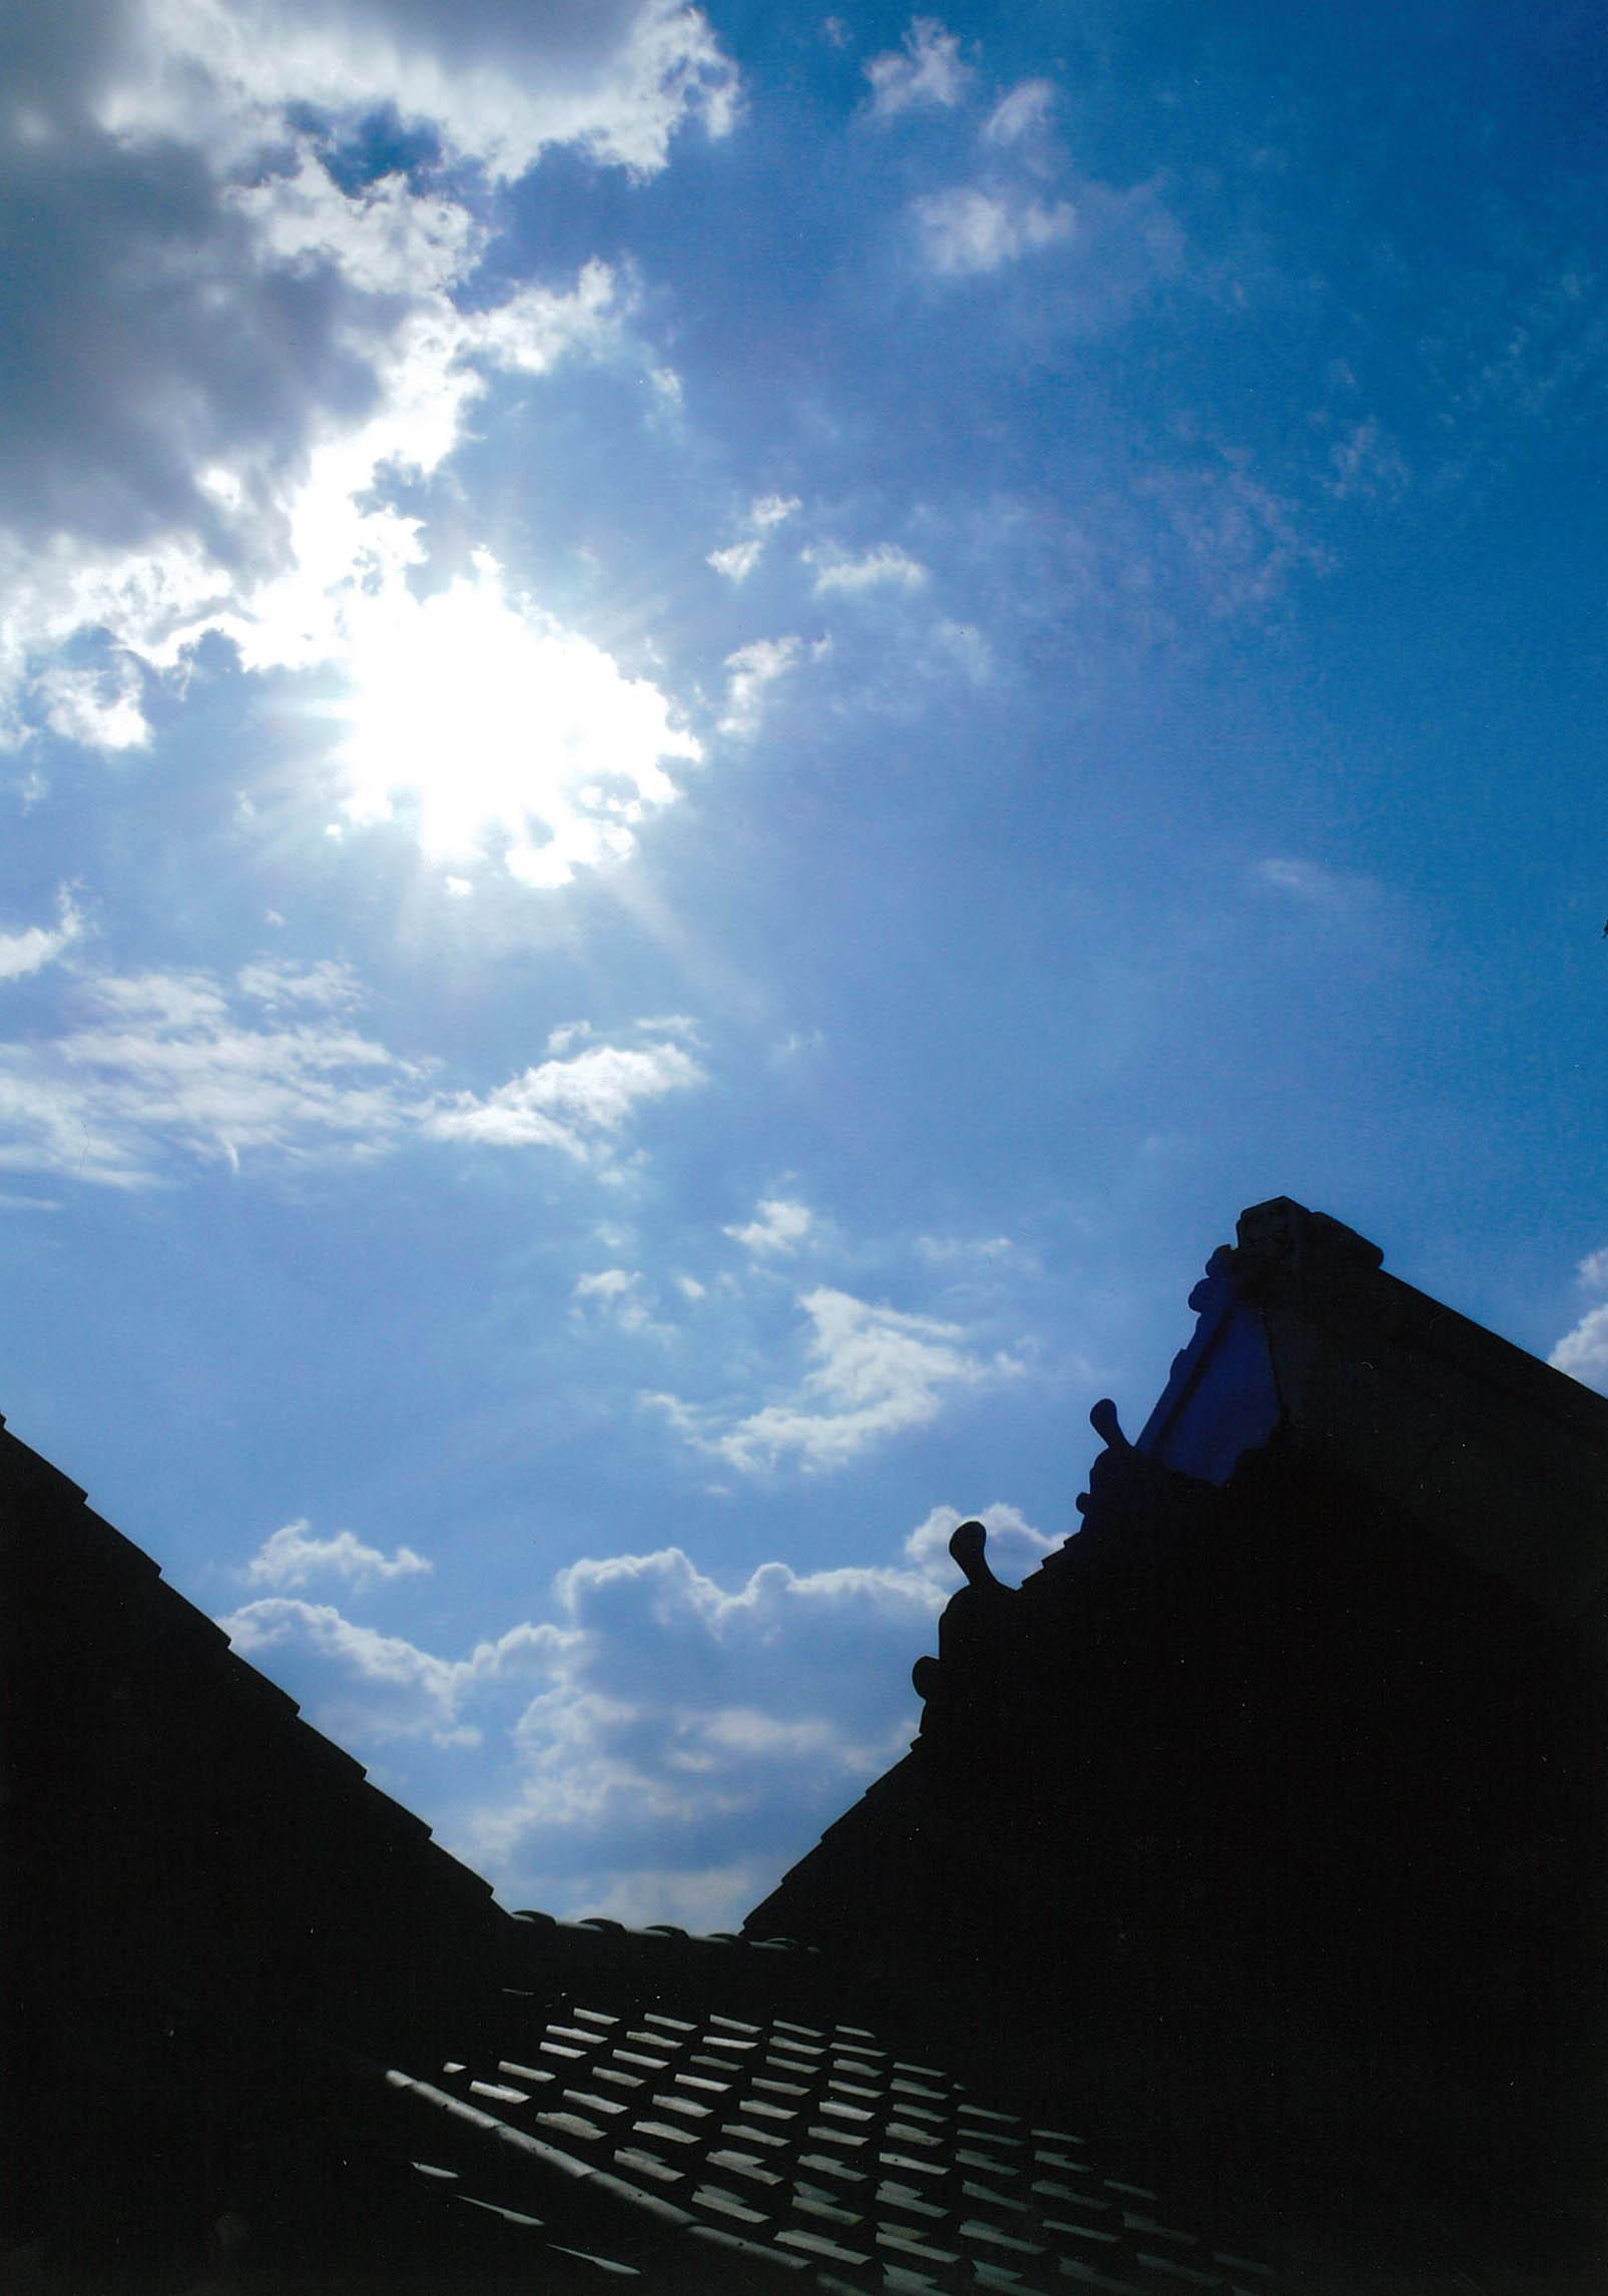
[[(345, 673), (351, 820), (407, 792), (436, 856), (489, 833), (540, 886), (627, 852), (664, 760), (696, 755), (671, 703), (485, 553), (411, 583), (430, 542), (397, 482), (446, 464), (498, 374), (636, 358), (604, 264), (485, 289), (473, 186), (556, 142), (648, 174), (678, 124), (721, 133), (708, 21), (113, 0), (14, 11), (0, 78), (0, 163), (51, 250), (0, 266), (0, 735), (138, 746), (149, 682), (216, 631), (253, 673)], [(354, 131), (386, 108), (413, 158), (363, 181)], [(487, 677), (453, 677), (464, 647)]]

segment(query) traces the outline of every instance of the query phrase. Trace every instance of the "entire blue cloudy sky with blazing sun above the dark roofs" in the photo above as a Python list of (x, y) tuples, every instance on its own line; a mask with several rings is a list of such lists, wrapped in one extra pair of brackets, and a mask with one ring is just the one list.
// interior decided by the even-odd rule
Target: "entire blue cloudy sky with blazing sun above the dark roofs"
[(505, 1903), (737, 1922), (1250, 1203), (1608, 1389), (1606, 83), (0, 21), (0, 1407)]

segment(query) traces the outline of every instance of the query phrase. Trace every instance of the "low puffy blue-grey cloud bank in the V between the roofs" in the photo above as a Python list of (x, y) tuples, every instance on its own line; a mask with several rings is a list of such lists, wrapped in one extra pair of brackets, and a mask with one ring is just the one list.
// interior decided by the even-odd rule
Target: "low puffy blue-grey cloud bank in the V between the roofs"
[[(988, 1513), (1008, 1543), (1020, 1515)], [(505, 1903), (726, 1926), (903, 1752), (946, 1596), (928, 1545), (923, 1525), (896, 1561), (733, 1584), (673, 1545), (586, 1559), (464, 1658), (294, 1596), (221, 1623), (391, 1775), (409, 1740), (480, 1747), (425, 1816)]]

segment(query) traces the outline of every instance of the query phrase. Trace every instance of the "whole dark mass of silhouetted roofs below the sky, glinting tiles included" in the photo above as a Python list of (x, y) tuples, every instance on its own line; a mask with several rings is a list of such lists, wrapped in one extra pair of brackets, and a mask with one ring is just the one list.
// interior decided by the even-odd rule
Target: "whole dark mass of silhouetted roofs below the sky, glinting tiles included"
[(503, 1913), (0, 1435), (0, 2289), (1599, 2289), (1608, 1403), (1378, 1263), (1245, 1215), (744, 1940)]

